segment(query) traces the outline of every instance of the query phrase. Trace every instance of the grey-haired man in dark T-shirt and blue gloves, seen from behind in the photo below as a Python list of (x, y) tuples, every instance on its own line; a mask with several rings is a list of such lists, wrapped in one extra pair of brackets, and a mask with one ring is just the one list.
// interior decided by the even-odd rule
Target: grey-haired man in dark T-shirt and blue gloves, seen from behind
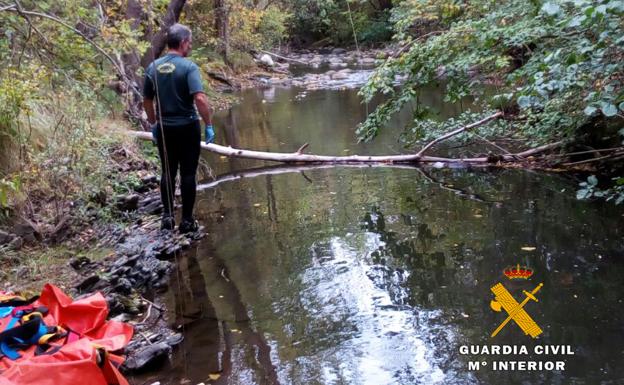
[(212, 113), (202, 86), (199, 67), (186, 59), (191, 52), (191, 42), (192, 34), (188, 27), (182, 24), (172, 25), (167, 31), (169, 50), (147, 67), (143, 87), (143, 107), (152, 125), (162, 169), (161, 228), (175, 228), (174, 192), (179, 168), (182, 222), (178, 230), (181, 233), (197, 231), (199, 228), (193, 218), (197, 189), (195, 178), (201, 150), (198, 112), (206, 124), (206, 142), (214, 140)]

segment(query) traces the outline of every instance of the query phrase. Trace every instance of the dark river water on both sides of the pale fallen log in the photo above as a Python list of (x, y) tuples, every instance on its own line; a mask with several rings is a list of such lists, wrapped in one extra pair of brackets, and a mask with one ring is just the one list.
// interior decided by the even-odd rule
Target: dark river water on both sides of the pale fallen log
[[(247, 90), (217, 142), (320, 154), (390, 154), (406, 116), (369, 144), (354, 90)], [(426, 102), (456, 114), (432, 90)], [(368, 106), (372, 108), (372, 106)], [(166, 301), (185, 342), (161, 384), (595, 384), (624, 381), (624, 210), (574, 198), (558, 174), (512, 169), (293, 168), (207, 155), (207, 236), (178, 259)], [(242, 171), (242, 172), (241, 172)], [(510, 280), (508, 266), (527, 266)], [(493, 311), (491, 286), (543, 330)], [(462, 345), (528, 355), (460, 354)], [(538, 356), (535, 345), (574, 355)], [(469, 361), (488, 362), (468, 370)], [(494, 371), (493, 361), (564, 361)], [(148, 382), (149, 383), (149, 382)]]

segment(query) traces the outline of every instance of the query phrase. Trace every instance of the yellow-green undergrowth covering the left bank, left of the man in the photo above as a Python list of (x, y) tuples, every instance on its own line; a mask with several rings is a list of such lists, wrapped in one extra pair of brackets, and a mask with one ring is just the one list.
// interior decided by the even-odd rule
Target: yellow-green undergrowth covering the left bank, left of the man
[(121, 58), (141, 55), (148, 43), (125, 2), (20, 4), (30, 14), (0, 7), (0, 210), (2, 219), (19, 214), (45, 232), (67, 216), (85, 219), (80, 208), (112, 194), (109, 186), (133, 188), (116, 151), (133, 154), (134, 145), (101, 126), (122, 109), (110, 88)]

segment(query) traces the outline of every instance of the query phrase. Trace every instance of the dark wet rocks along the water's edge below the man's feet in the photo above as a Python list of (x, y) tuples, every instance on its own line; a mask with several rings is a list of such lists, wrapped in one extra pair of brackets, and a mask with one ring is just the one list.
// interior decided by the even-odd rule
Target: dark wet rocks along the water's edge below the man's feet
[(70, 265), (82, 276), (74, 285), (78, 296), (100, 291), (109, 316), (134, 326), (122, 371), (140, 373), (157, 369), (183, 340), (182, 334), (168, 327), (158, 294), (168, 289), (177, 256), (202, 238), (203, 229), (191, 234), (160, 230), (160, 196), (151, 192), (132, 200), (142, 215), (116, 234), (114, 252), (99, 262), (81, 257)]

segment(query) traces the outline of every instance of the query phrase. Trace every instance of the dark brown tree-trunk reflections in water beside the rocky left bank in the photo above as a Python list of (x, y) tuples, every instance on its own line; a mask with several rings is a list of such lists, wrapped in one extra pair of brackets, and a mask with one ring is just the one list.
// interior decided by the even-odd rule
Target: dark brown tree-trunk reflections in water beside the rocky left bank
[[(271, 347), (251, 324), (227, 267), (212, 253), (200, 265), (198, 253), (204, 252), (194, 250), (178, 260), (172, 280), (175, 297), (169, 303), (174, 312), (169, 319), (183, 330), (185, 341), (162, 380), (228, 384), (249, 376), (248, 383), (279, 384)], [(241, 370), (240, 361), (254, 370)]]

